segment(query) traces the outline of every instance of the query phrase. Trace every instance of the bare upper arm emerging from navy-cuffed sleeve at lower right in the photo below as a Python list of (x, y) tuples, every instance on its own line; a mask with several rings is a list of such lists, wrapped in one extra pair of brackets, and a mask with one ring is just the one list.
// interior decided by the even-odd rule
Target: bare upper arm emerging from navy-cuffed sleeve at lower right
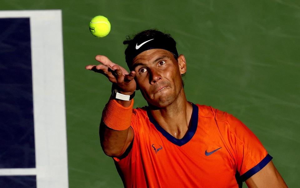
[(287, 187), (272, 161), (245, 182), (249, 188)]

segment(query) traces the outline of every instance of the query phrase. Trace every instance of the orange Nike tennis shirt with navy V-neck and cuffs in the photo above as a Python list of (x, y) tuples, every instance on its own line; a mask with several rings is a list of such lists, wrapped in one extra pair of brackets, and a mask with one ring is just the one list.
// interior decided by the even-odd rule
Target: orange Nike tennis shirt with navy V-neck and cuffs
[(165, 131), (147, 111), (133, 109), (134, 138), (113, 158), (125, 187), (241, 187), (272, 157), (237, 118), (192, 104), (182, 139)]

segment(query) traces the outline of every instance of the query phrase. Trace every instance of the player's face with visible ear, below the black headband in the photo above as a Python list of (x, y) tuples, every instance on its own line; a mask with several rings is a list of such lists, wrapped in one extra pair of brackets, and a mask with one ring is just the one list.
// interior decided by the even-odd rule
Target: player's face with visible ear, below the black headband
[(167, 50), (146, 50), (133, 59), (132, 70), (148, 104), (166, 107), (183, 92), (181, 74), (186, 72), (183, 55), (177, 60)]

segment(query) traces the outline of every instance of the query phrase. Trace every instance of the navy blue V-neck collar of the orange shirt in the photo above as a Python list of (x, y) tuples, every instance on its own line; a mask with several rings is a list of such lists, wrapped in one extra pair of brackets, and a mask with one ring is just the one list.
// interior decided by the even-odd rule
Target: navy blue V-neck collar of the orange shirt
[(194, 136), (197, 125), (198, 125), (198, 106), (195, 104), (192, 104), (193, 111), (192, 111), (192, 117), (191, 117), (191, 125), (189, 129), (187, 130), (187, 133), (183, 136), (182, 139), (177, 139), (174, 136), (170, 135), (167, 131), (165, 131), (158, 123), (155, 121), (153, 116), (151, 115), (150, 111), (147, 110), (147, 114), (149, 117), (149, 120), (153, 125), (156, 127), (156, 129), (163, 134), (164, 137), (168, 139), (168, 141), (172, 142), (173, 144), (176, 144), (177, 146), (182, 146), (186, 144), (188, 141), (192, 139)]

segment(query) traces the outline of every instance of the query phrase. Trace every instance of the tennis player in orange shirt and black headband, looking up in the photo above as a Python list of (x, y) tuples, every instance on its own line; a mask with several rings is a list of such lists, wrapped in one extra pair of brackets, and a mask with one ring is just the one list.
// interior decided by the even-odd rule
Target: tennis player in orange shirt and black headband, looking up
[[(241, 121), (187, 101), (187, 62), (169, 34), (146, 30), (124, 44), (129, 73), (101, 55), (86, 69), (113, 83), (99, 133), (125, 187), (287, 187)], [(133, 109), (136, 90), (148, 106)]]

